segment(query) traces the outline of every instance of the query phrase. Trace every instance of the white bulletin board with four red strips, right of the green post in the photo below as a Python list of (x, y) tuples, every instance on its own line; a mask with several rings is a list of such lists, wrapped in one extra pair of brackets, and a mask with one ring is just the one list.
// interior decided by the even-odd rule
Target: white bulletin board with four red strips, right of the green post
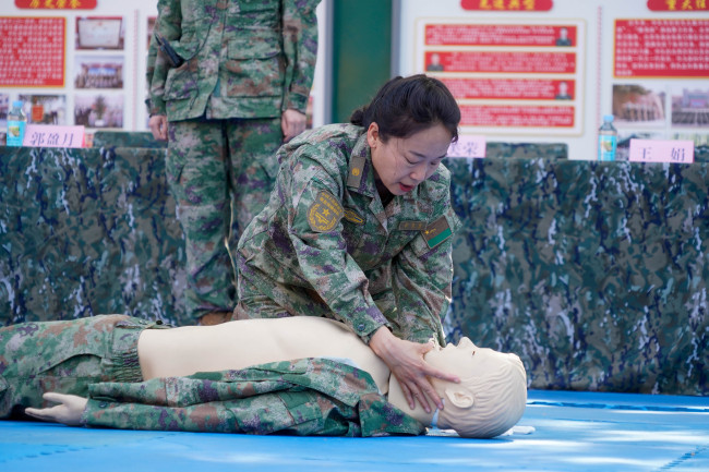
[(709, 144), (705, 0), (406, 0), (399, 71), (448, 85), (461, 133), (563, 142), (593, 158), (602, 116), (618, 140)]

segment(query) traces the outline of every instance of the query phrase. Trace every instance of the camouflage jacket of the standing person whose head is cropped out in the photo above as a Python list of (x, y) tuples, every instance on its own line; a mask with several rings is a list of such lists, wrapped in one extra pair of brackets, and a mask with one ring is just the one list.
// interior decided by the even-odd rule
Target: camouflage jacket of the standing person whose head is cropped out
[(172, 68), (151, 38), (151, 114), (168, 120), (305, 112), (320, 0), (159, 0), (155, 32), (184, 59)]

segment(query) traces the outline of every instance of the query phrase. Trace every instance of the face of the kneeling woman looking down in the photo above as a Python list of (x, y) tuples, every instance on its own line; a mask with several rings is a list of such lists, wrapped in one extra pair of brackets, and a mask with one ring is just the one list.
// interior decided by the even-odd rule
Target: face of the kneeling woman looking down
[(430, 178), (446, 156), (452, 137), (440, 123), (408, 137), (389, 137), (386, 143), (376, 123), (366, 130), (376, 177), (394, 195), (411, 192)]

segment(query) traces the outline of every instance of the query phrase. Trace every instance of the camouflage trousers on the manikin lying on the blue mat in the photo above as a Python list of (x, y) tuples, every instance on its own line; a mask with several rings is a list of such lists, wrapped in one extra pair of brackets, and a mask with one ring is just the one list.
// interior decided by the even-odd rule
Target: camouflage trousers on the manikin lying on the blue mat
[(0, 328), (0, 419), (43, 408), (46, 391), (88, 396), (98, 382), (142, 382), (137, 338), (167, 328), (125, 315), (22, 323)]

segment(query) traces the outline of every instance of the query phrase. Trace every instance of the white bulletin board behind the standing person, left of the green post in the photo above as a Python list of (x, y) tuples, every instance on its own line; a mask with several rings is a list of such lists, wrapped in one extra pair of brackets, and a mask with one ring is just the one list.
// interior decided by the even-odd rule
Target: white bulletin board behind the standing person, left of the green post
[[(0, 12), (0, 130), (13, 100), (29, 124), (146, 131), (145, 68), (157, 0), (4, 0)], [(325, 2), (317, 16), (325, 17)], [(321, 41), (325, 25), (320, 21)], [(323, 124), (320, 48), (309, 123)], [(0, 131), (0, 134), (3, 134)]]

